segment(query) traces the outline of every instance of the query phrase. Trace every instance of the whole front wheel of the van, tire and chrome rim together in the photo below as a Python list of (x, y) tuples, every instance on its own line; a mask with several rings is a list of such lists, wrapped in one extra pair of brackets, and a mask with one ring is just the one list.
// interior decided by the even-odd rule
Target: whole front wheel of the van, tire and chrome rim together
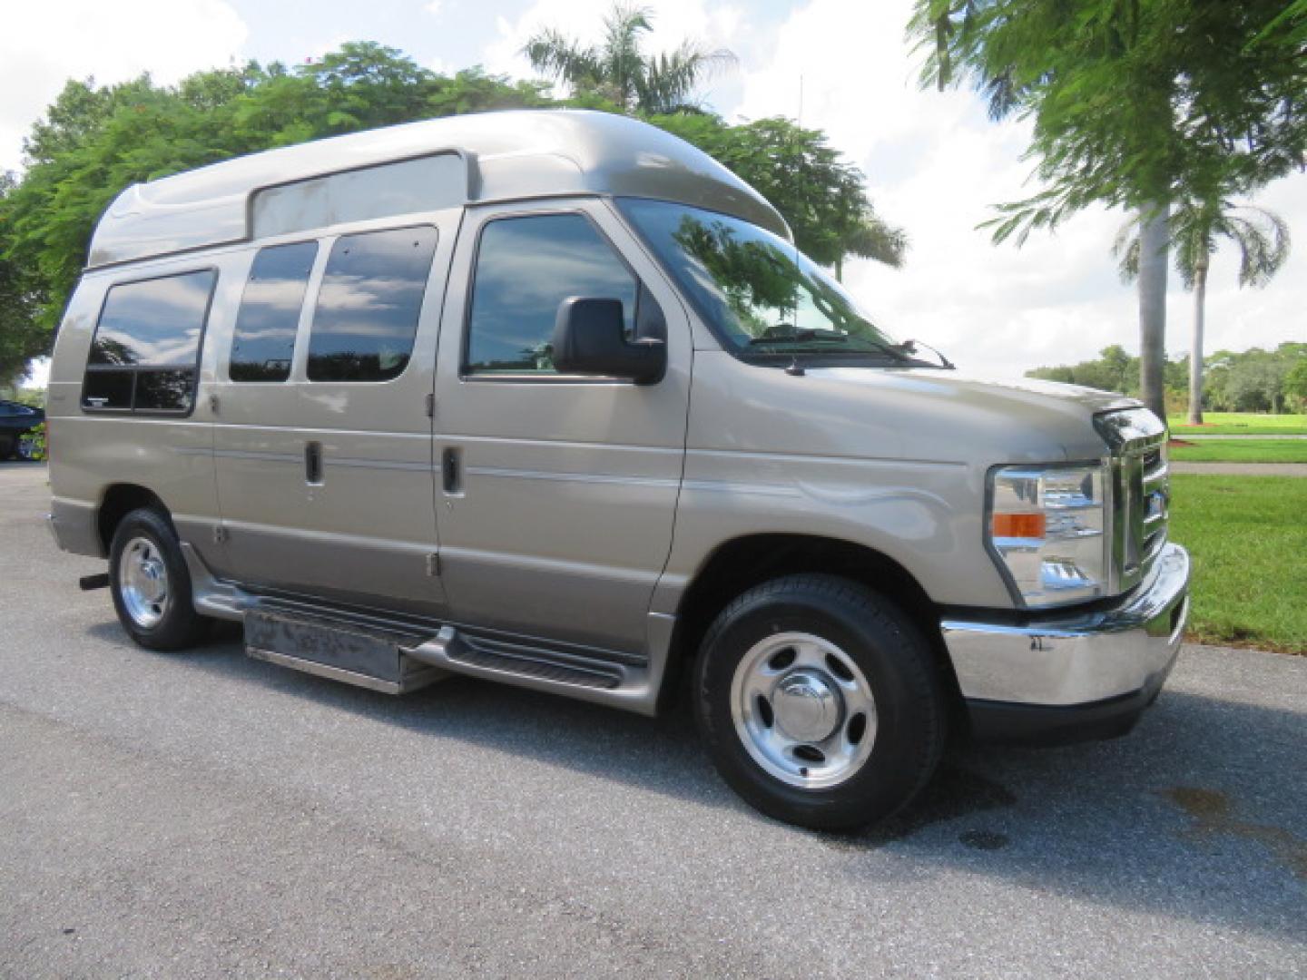
[(848, 830), (925, 785), (945, 740), (931, 647), (884, 596), (792, 575), (740, 596), (708, 629), (695, 713), (731, 787), (778, 819)]

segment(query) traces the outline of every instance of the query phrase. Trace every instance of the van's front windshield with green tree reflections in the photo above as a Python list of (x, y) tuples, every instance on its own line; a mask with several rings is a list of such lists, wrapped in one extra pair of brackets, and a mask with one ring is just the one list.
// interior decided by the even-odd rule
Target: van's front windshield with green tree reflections
[(618, 204), (735, 353), (911, 359), (838, 282), (770, 231), (670, 201)]

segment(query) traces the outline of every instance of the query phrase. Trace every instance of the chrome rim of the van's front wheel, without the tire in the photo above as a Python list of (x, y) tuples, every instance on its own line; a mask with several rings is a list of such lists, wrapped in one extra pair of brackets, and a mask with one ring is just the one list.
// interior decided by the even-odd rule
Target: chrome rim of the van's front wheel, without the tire
[(853, 776), (876, 742), (876, 700), (848, 653), (806, 632), (755, 643), (736, 666), (731, 716), (754, 762), (804, 789)]

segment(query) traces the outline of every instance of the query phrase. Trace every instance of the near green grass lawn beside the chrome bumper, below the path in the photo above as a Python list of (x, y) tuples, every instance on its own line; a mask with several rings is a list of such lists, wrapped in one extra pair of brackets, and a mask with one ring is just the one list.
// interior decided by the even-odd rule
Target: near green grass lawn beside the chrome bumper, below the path
[(1307, 653), (1307, 480), (1171, 476), (1193, 555), (1189, 639)]

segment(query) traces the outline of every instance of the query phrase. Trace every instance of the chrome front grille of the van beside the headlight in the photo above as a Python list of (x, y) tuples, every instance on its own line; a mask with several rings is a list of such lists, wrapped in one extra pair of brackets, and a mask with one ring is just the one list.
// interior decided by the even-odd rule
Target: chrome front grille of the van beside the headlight
[(1148, 575), (1166, 545), (1166, 427), (1146, 409), (1110, 412), (1095, 423), (1111, 447), (1111, 591), (1120, 593)]

